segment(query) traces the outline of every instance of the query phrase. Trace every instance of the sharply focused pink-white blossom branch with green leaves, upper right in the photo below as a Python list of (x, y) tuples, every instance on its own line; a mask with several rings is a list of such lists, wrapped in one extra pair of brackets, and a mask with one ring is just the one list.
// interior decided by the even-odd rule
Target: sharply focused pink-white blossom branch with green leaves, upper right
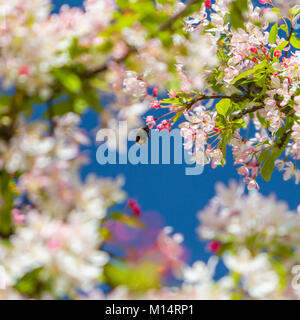
[(146, 119), (150, 128), (170, 131), (184, 115), (179, 126), (192, 160), (223, 166), (230, 147), (249, 190), (259, 188), (259, 175), (269, 180), (275, 164), (285, 180), (299, 182), (299, 6), (277, 5), (279, 11), (250, 4), (244, 28), (229, 24), (226, 1), (185, 19), (190, 37), (182, 41), (191, 52), (176, 57), (179, 89), (151, 104), (169, 108), (169, 119)]

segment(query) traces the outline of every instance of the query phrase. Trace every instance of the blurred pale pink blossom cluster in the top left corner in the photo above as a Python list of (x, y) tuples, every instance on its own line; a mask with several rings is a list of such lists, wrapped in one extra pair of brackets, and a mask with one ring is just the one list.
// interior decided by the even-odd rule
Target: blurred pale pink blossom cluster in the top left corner
[[(101, 45), (98, 34), (111, 22), (115, 10), (111, 0), (88, 0), (84, 10), (64, 6), (60, 14), (50, 15), (51, 5), (50, 0), (0, 2), (0, 75), (5, 88), (18, 85), (30, 95), (49, 97), (53, 69), (73, 62), (68, 49), (74, 39), (87, 48)], [(88, 67), (96, 59), (103, 57), (87, 52), (80, 62)]]

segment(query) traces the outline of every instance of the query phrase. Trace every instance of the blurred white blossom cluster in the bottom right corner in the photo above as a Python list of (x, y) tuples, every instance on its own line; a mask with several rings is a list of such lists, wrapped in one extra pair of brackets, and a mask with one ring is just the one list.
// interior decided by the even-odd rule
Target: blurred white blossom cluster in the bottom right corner
[[(289, 211), (274, 196), (232, 181), (217, 185), (216, 196), (199, 212), (201, 239), (214, 254), (206, 263), (181, 265), (181, 286), (149, 290), (143, 299), (299, 299), (293, 287), (293, 266), (299, 264), (300, 211)], [(222, 260), (228, 274), (219, 280), (215, 269)], [(95, 294), (95, 293), (94, 293)], [(109, 298), (133, 299), (128, 288), (116, 288)], [(91, 296), (92, 298), (92, 296)]]

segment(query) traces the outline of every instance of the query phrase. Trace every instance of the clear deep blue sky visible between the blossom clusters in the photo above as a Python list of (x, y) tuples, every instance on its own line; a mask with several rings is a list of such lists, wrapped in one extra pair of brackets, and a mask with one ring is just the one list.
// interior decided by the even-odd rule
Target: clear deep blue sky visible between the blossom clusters
[[(67, 3), (70, 6), (80, 5), (81, 0), (55, 0), (56, 9)], [(91, 131), (99, 128), (97, 116), (87, 112), (82, 117), (82, 126)], [(92, 136), (92, 140), (95, 138)], [(200, 243), (195, 232), (198, 226), (196, 213), (204, 208), (214, 195), (216, 182), (228, 183), (230, 179), (239, 181), (236, 168), (232, 165), (232, 158), (228, 155), (224, 168), (204, 168), (202, 175), (185, 175), (185, 164), (182, 165), (99, 165), (96, 161), (96, 145), (87, 151), (91, 157), (91, 163), (82, 170), (83, 177), (87, 173), (95, 173), (99, 176), (115, 177), (119, 174), (126, 178), (125, 190), (130, 197), (138, 200), (143, 211), (159, 212), (166, 225), (174, 227), (176, 232), (181, 232), (184, 244), (190, 251), (190, 260), (206, 260), (209, 253), (205, 245)], [(229, 152), (230, 153), (230, 152)], [(284, 182), (282, 174), (274, 171), (270, 182), (259, 180), (263, 194), (275, 193), (277, 198), (286, 201), (290, 208), (295, 209), (300, 198), (299, 186), (294, 181)], [(224, 269), (219, 267), (217, 275), (221, 275)]]

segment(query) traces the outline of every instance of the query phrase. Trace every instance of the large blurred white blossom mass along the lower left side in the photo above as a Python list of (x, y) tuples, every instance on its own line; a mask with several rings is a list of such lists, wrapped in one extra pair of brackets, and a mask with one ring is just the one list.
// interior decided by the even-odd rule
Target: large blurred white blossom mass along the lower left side
[[(71, 113), (55, 118), (52, 136), (45, 124), (20, 123), (14, 138), (1, 144), (1, 172), (23, 172), (14, 187), (12, 234), (0, 245), (2, 298), (18, 292), (76, 296), (78, 288), (95, 285), (109, 260), (99, 250), (101, 221), (110, 206), (124, 200), (123, 181), (93, 176), (81, 181), (80, 145), (88, 138), (79, 120)], [(40, 292), (26, 287), (29, 275), (37, 277)]]

